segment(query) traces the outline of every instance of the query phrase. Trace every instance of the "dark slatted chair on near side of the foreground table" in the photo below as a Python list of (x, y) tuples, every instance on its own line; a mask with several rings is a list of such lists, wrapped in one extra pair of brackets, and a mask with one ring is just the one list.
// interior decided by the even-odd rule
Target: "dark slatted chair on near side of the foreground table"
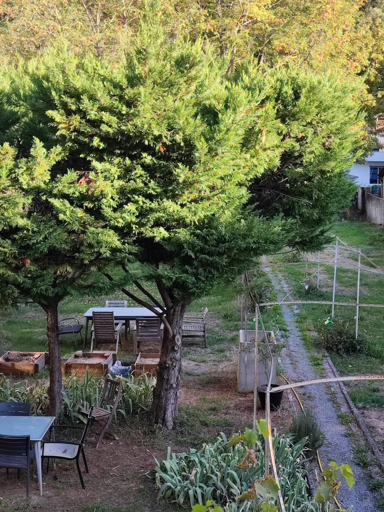
[(17, 478), (20, 476), (20, 470), (27, 470), (27, 498), (29, 498), (29, 466), (34, 456), (35, 451), (31, 450), (29, 436), (0, 435), (0, 467), (7, 468), (7, 478), (9, 468), (17, 469)]

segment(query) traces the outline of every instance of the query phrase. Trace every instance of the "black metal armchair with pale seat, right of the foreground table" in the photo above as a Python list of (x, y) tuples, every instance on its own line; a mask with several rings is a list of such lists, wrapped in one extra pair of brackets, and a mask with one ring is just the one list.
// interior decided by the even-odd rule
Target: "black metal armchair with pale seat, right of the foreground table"
[(81, 471), (80, 471), (80, 465), (79, 465), (79, 457), (80, 453), (82, 456), (82, 460), (84, 462), (84, 467), (86, 468), (86, 473), (89, 473), (88, 471), (88, 465), (86, 460), (86, 455), (84, 454), (84, 440), (86, 439), (87, 432), (89, 429), (89, 426), (91, 424), (91, 418), (92, 418), (92, 412), (93, 407), (91, 407), (87, 423), (83, 428), (83, 433), (81, 435), (81, 440), (79, 443), (76, 443), (74, 441), (51, 441), (51, 434), (55, 431), (55, 429), (82, 429), (82, 426), (78, 425), (52, 425), (51, 430), (49, 432), (49, 441), (43, 441), (42, 442), (42, 456), (41, 459), (48, 459), (47, 464), (47, 473), (49, 471), (49, 459), (66, 459), (66, 460), (75, 460), (76, 466), (77, 466), (77, 473), (79, 474), (81, 487), (83, 489), (86, 488), (84, 485), (84, 481), (82, 479)]

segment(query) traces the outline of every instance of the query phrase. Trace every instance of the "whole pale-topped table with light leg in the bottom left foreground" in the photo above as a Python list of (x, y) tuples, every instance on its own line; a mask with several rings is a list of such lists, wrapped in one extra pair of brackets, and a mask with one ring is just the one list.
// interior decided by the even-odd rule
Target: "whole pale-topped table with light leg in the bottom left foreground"
[(41, 441), (55, 421), (54, 416), (0, 416), (0, 434), (30, 436), (35, 443), (37, 480), (42, 496)]

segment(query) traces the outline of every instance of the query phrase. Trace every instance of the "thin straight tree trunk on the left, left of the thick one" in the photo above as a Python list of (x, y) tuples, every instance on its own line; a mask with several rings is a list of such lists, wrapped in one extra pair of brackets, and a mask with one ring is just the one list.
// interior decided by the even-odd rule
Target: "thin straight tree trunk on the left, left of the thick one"
[(57, 305), (57, 301), (50, 302), (46, 311), (49, 347), (49, 415), (56, 416), (58, 419), (62, 403), (62, 380)]

